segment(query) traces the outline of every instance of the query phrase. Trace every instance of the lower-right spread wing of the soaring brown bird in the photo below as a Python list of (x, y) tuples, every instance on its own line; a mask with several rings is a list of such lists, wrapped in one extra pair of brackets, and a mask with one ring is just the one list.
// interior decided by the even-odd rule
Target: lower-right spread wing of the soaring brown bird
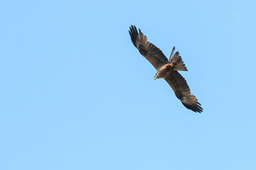
[(198, 102), (198, 99), (196, 99), (196, 96), (191, 94), (188, 84), (181, 74), (174, 70), (168, 76), (164, 77), (164, 79), (168, 82), (177, 98), (181, 100), (181, 103), (183, 103), (186, 108), (198, 113), (203, 111), (201, 104)]

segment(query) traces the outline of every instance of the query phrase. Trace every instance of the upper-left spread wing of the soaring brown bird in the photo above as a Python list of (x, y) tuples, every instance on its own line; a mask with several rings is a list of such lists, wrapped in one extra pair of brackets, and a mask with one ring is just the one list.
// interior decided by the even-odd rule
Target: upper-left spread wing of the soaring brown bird
[(131, 36), (134, 46), (137, 47), (146, 60), (149, 60), (156, 70), (168, 62), (163, 52), (154, 44), (148, 42), (146, 35), (144, 35), (140, 29), (138, 33), (135, 26), (130, 26), (129, 35)]

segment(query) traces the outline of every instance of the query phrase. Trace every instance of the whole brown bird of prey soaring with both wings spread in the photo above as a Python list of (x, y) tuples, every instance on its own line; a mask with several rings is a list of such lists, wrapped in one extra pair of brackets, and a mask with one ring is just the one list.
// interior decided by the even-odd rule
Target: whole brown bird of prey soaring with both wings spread
[(135, 26), (130, 26), (129, 29), (129, 35), (134, 46), (155, 67), (156, 74), (154, 79), (164, 78), (186, 108), (201, 113), (203, 111), (201, 104), (196, 99), (196, 96), (191, 94), (186, 80), (178, 73), (178, 71), (188, 71), (188, 69), (183, 63), (179, 52), (174, 52), (175, 47), (168, 60), (158, 47), (147, 41), (146, 35), (140, 29), (139, 32)]

